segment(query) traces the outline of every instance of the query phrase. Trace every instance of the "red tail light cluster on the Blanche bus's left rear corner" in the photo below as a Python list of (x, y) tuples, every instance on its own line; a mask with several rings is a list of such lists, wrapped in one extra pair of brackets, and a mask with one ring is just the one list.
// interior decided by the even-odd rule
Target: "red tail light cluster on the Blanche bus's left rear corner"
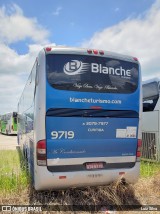
[(47, 164), (46, 141), (40, 140), (37, 143), (37, 165), (46, 166), (46, 164)]

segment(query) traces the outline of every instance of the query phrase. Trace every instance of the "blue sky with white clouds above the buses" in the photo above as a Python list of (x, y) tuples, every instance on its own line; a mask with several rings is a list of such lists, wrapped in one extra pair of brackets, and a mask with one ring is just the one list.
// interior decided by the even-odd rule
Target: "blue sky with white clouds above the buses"
[(160, 76), (160, 0), (0, 0), (0, 114), (17, 111), (38, 52), (65, 45), (137, 57)]

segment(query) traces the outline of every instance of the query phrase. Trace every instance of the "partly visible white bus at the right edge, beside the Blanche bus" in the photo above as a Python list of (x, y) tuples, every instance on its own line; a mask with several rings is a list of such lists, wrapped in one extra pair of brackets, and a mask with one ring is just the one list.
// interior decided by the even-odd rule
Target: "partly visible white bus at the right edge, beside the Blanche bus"
[(143, 82), (142, 158), (160, 161), (160, 79)]

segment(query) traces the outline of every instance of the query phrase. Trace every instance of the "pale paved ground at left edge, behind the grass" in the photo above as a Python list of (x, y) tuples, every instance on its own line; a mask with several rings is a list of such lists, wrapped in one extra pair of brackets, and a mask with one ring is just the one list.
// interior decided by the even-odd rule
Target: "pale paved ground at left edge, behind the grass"
[(17, 136), (0, 134), (0, 150), (16, 150), (17, 146)]

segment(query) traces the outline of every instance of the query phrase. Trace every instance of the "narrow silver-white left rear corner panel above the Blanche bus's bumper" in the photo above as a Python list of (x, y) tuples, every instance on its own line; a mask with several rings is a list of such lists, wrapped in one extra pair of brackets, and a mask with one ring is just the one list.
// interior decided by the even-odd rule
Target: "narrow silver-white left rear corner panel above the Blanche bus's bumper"
[(34, 186), (38, 186), (41, 179), (45, 182), (48, 175), (39, 176), (43, 173), (45, 166), (37, 165), (37, 143), (46, 139), (45, 115), (46, 115), (46, 64), (45, 53), (41, 51), (37, 58), (35, 106), (34, 106)]

